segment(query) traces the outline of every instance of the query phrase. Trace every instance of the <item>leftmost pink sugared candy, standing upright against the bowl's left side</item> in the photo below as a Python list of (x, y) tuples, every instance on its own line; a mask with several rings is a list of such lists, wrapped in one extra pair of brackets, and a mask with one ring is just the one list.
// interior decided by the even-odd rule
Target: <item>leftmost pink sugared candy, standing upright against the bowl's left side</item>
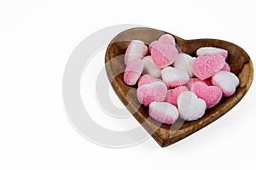
[(131, 60), (125, 68), (124, 81), (127, 85), (133, 86), (143, 72), (142, 59)]

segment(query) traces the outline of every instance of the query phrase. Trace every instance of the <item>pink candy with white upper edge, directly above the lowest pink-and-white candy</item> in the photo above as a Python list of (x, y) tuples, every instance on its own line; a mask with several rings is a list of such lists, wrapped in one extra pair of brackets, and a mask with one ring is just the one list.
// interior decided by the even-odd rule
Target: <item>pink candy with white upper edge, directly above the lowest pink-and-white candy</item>
[(138, 101), (148, 106), (154, 101), (164, 101), (166, 99), (167, 87), (164, 82), (151, 82), (137, 88)]

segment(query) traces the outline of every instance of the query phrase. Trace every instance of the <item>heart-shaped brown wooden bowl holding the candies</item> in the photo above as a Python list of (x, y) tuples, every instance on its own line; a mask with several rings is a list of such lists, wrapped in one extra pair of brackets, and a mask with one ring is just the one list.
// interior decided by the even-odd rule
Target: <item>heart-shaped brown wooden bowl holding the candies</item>
[[(173, 144), (189, 136), (189, 134), (195, 133), (202, 127), (217, 120), (220, 116), (223, 116), (227, 111), (230, 111), (247, 93), (253, 81), (253, 63), (248, 54), (236, 44), (218, 39), (184, 40), (172, 35), (176, 40), (179, 52), (190, 54), (191, 56), (195, 56), (198, 48), (206, 46), (227, 49), (229, 56), (226, 61), (229, 63), (231, 71), (239, 77), (240, 84), (236, 88), (236, 94), (229, 98), (223, 98), (218, 105), (208, 109), (205, 115), (197, 121), (183, 122), (183, 120), (178, 119), (172, 126), (154, 121), (154, 119), (148, 116), (148, 107), (138, 103), (136, 93), (130, 93), (128, 95), (128, 92), (132, 92), (130, 90), (136, 92), (137, 85), (130, 87), (123, 81), (125, 71), (124, 56), (125, 50), (131, 40), (142, 40), (148, 45), (166, 33), (168, 32), (144, 27), (123, 31), (109, 43), (105, 56), (108, 79), (115, 93), (161, 147)], [(137, 107), (138, 105), (139, 107)]]

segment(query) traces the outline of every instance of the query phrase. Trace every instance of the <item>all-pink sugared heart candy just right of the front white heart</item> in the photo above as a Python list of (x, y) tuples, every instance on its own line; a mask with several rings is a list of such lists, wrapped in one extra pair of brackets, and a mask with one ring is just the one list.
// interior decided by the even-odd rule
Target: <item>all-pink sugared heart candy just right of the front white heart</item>
[(204, 82), (195, 82), (190, 88), (198, 98), (205, 100), (207, 109), (218, 104), (222, 98), (222, 91), (217, 86), (207, 86)]

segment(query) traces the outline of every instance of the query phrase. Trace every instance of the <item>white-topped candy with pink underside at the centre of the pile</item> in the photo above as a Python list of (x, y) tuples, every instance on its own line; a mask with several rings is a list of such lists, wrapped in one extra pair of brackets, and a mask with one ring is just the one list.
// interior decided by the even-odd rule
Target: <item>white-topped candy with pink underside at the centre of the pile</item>
[(184, 71), (179, 71), (171, 66), (167, 66), (161, 71), (163, 82), (166, 86), (174, 88), (189, 82), (189, 75)]

